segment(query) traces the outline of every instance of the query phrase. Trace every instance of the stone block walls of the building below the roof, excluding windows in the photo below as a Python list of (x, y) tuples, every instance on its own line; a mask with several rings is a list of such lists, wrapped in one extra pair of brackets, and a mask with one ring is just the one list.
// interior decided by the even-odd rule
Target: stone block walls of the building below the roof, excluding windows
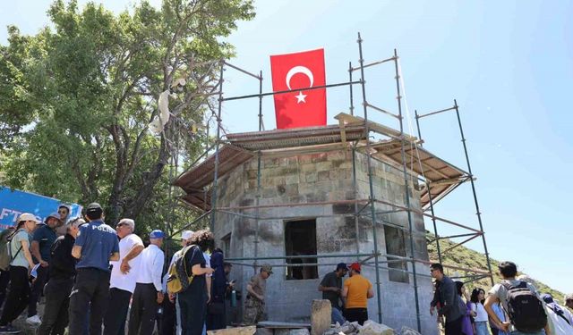
[[(356, 188), (353, 184), (352, 152), (346, 150), (321, 154), (292, 155), (285, 157), (262, 157), (261, 159), (261, 198), (260, 205), (307, 204), (370, 197), (367, 173), (367, 157), (356, 154)], [(257, 158), (243, 163), (233, 172), (227, 173), (218, 181), (218, 207), (252, 206), (256, 204)], [(372, 160), (372, 184), (377, 199), (406, 205), (406, 188), (401, 170), (389, 164)], [(412, 185), (410, 185), (412, 187)], [(412, 207), (420, 208), (418, 194), (410, 188)], [(374, 209), (379, 222), (388, 222), (398, 229), (407, 229), (406, 212), (380, 214), (389, 210), (388, 205), (376, 204)], [(359, 254), (372, 253), (374, 239), (372, 233), (371, 208), (364, 208), (355, 219), (354, 204), (305, 205), (291, 207), (268, 207), (259, 210), (261, 217), (258, 229), (259, 243), (255, 243), (256, 222), (248, 216), (255, 216), (256, 210), (244, 209), (235, 214), (218, 213), (214, 234), (216, 241), (231, 236), (231, 247), (227, 257), (252, 257), (257, 254), (267, 256), (285, 255), (285, 221), (316, 218), (318, 254)], [(338, 216), (326, 216), (341, 214)], [(412, 216), (415, 230), (415, 258), (427, 260), (427, 248), (423, 237), (423, 217)], [(408, 231), (404, 230), (406, 255), (410, 256)], [(376, 241), (381, 254), (386, 254), (386, 239), (383, 226), (377, 226)], [(393, 243), (394, 241), (392, 241)], [(256, 245), (256, 247), (255, 247)], [(395, 247), (395, 246), (394, 246)], [(385, 261), (386, 257), (379, 257)], [(333, 271), (338, 262), (351, 263), (356, 257), (320, 258), (319, 279), (287, 281), (286, 268), (275, 267), (274, 274), (267, 282), (267, 313), (269, 320), (285, 322), (308, 322), (312, 299), (321, 298), (318, 285), (321, 278)], [(284, 260), (260, 261), (261, 263), (283, 264)], [(252, 261), (244, 261), (252, 264)], [(411, 271), (412, 264), (406, 264)], [(387, 264), (381, 263), (381, 267)], [(416, 271), (425, 276), (417, 276), (420, 311), (423, 315), (423, 333), (437, 333), (435, 319), (428, 313), (432, 299), (432, 282), (427, 277), (428, 267), (416, 264)], [(250, 266), (235, 266), (232, 278), (237, 287), (246, 294), (246, 283), (254, 274)], [(376, 273), (373, 259), (363, 266), (363, 275), (372, 281), (376, 292)], [(379, 271), (381, 281), (381, 312), (383, 322), (390, 327), (406, 325), (415, 328), (414, 278), (409, 275), (407, 282), (389, 281), (389, 271)], [(369, 300), (369, 314), (378, 321), (377, 298)]]

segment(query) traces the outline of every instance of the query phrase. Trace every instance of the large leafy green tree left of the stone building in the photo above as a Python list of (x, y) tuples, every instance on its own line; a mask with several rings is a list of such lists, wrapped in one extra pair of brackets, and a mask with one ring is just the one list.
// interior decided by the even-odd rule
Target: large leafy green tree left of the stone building
[[(170, 159), (184, 164), (204, 146), (190, 125), (210, 113), (213, 61), (233, 56), (223, 38), (236, 21), (252, 19), (252, 1), (164, 0), (160, 9), (142, 2), (114, 15), (57, 0), (48, 16), (53, 29), (24, 37), (10, 27), (8, 46), (0, 46), (1, 181), (103, 202), (108, 221), (167, 220)], [(158, 96), (179, 78), (187, 84), (171, 99), (175, 118), (153, 136)]]

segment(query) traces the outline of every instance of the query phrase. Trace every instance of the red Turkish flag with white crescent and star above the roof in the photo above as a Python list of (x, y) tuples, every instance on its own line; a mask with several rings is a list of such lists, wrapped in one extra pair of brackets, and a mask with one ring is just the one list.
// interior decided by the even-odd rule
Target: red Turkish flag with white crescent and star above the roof
[[(270, 56), (273, 92), (326, 85), (324, 49)], [(276, 94), (277, 129), (326, 125), (326, 88)]]

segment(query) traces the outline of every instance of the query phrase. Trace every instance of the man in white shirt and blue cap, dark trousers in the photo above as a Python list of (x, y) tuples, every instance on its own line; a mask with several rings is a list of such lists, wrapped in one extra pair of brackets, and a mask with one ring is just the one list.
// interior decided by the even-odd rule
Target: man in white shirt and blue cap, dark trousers
[(140, 270), (129, 314), (129, 335), (153, 333), (158, 306), (163, 302), (161, 272), (164, 255), (161, 246), (164, 237), (165, 234), (161, 230), (151, 231), (150, 245), (141, 252)]

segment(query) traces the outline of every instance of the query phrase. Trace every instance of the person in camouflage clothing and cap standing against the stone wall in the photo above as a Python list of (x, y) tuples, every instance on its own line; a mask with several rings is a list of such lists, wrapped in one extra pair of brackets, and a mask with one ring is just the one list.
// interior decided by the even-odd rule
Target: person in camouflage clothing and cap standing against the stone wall
[(261, 272), (252, 276), (247, 284), (247, 300), (244, 303), (245, 324), (255, 324), (263, 320), (265, 309), (265, 292), (267, 290), (267, 279), (272, 274), (272, 267), (269, 264), (261, 266)]

